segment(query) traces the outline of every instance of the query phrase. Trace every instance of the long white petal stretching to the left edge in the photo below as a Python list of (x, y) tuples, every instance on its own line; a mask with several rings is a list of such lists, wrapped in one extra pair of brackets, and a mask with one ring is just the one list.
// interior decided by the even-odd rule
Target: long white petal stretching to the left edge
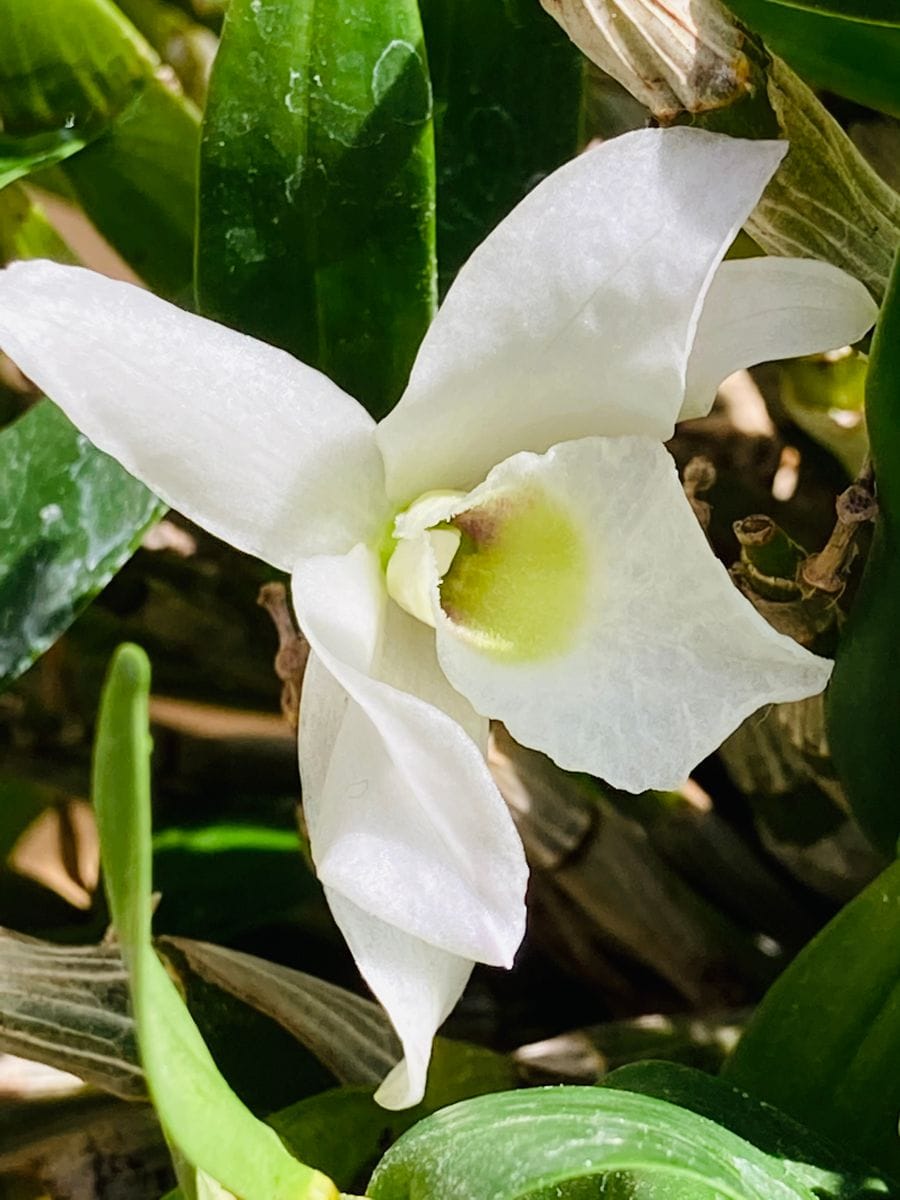
[(168, 504), (276, 566), (384, 520), (371, 418), (283, 350), (43, 262), (0, 272), (0, 348)]

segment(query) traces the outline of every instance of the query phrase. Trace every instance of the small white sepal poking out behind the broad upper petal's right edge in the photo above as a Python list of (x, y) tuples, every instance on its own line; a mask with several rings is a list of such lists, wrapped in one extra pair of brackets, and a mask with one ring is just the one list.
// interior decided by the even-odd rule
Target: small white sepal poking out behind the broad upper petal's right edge
[(697, 325), (679, 420), (704, 416), (722, 379), (743, 367), (858, 341), (878, 307), (830, 263), (745, 258), (722, 263)]

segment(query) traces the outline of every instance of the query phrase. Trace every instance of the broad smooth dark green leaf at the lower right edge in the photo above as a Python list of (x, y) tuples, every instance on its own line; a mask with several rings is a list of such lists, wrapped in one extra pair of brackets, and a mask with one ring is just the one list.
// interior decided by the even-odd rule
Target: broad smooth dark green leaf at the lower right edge
[(767, 992), (725, 1078), (900, 1178), (900, 863)]

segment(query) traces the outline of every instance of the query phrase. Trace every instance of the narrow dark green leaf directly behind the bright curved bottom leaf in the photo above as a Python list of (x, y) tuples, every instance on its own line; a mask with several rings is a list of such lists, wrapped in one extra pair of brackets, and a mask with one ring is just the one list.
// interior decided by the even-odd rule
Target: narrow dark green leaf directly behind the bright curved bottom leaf
[(689, 1109), (725, 1126), (739, 1138), (781, 1159), (817, 1196), (833, 1200), (893, 1193), (893, 1186), (864, 1166), (848, 1163), (835, 1147), (770, 1104), (748, 1096), (727, 1080), (671, 1062), (622, 1067), (602, 1082)]

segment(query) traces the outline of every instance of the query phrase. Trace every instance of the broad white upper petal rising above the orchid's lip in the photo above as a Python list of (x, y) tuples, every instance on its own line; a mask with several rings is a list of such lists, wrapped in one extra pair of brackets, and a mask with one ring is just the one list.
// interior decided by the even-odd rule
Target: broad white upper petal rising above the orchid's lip
[(468, 488), (569, 438), (667, 438), (709, 281), (785, 150), (643, 130), (535, 187), (460, 271), (378, 427), (389, 493)]

